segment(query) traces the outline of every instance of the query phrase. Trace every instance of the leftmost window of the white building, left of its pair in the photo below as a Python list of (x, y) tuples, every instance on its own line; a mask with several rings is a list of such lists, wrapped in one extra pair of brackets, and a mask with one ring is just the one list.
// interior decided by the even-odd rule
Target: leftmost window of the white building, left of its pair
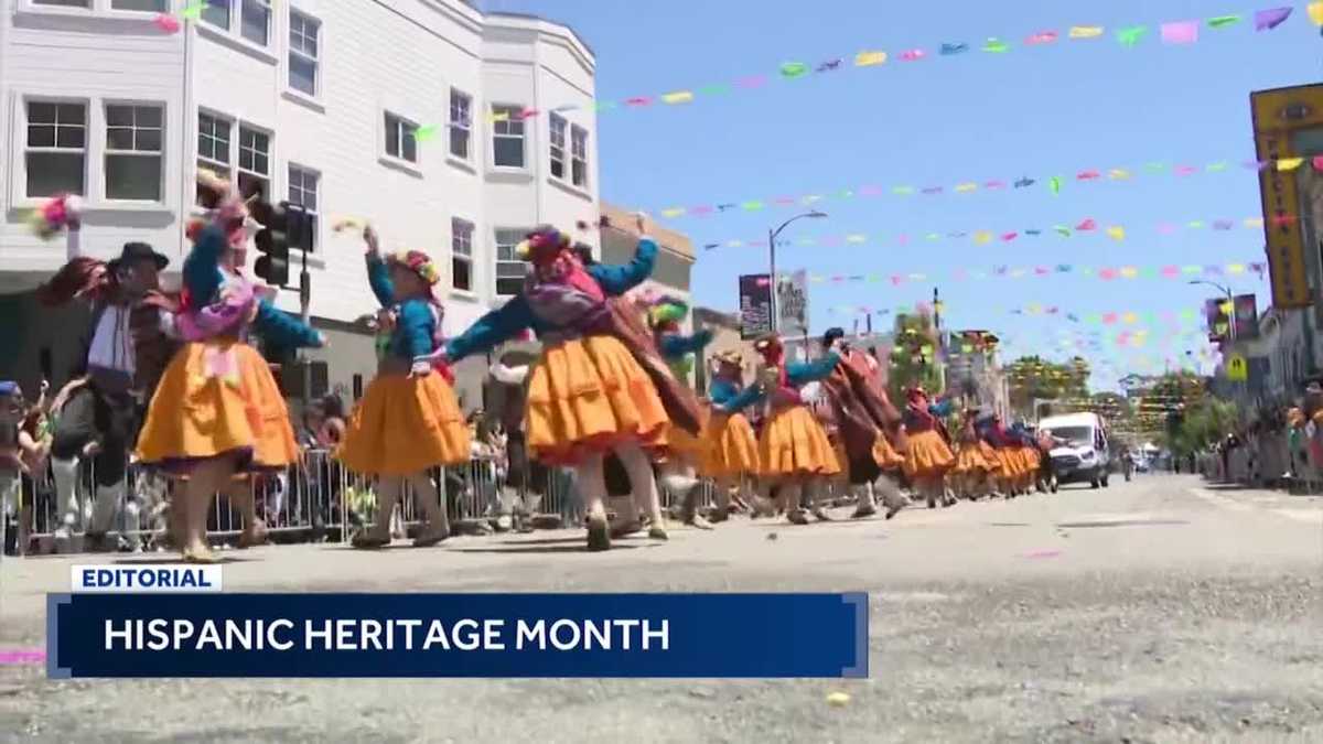
[(85, 195), (87, 106), (28, 102), (28, 196)]

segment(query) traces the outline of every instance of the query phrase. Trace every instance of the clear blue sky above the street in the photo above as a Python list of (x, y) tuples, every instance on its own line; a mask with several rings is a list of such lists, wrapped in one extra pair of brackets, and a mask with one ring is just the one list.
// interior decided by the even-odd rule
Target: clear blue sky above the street
[[(700, 97), (687, 106), (602, 113), (601, 193), (617, 204), (656, 214), (665, 207), (830, 193), (861, 184), (945, 185), (950, 191), (967, 180), (1065, 176), (1058, 196), (1039, 184), (960, 196), (827, 200), (820, 208), (828, 220), (796, 222), (783, 237), (908, 233), (910, 246), (892, 240), (886, 245), (792, 246), (778, 254), (782, 270), (806, 267), (826, 275), (945, 274), (938, 282), (945, 324), (990, 327), (1021, 339), (1013, 351), (1025, 351), (1050, 334), (1102, 330), (1070, 324), (1065, 312), (1180, 311), (1197, 307), (1208, 290), (1183, 281), (1084, 277), (955, 282), (950, 279), (955, 269), (1262, 259), (1261, 230), (1240, 226), (1245, 217), (1259, 214), (1257, 179), (1240, 167), (1254, 156), (1249, 94), (1316, 81), (1323, 65), (1323, 38), (1303, 4), (1278, 29), (1253, 30), (1253, 12), (1274, 4), (487, 0), (486, 8), (537, 13), (574, 26), (597, 53), (599, 99), (693, 90), (751, 74), (775, 78), (786, 61), (845, 60), (840, 71), (773, 79), (761, 90)], [(1221, 30), (1204, 26), (1199, 42), (1188, 46), (1158, 40), (1162, 23), (1228, 13), (1246, 20)], [(1136, 24), (1150, 26), (1150, 36), (1138, 48), (1121, 48), (1113, 30)], [(1066, 41), (1072, 25), (1101, 25), (1107, 32), (1098, 40)], [(1023, 45), (1040, 30), (1057, 30), (1062, 38), (1049, 46)], [(992, 36), (1011, 42), (1011, 52), (979, 52)], [(967, 42), (971, 52), (941, 57), (942, 42)], [(897, 60), (913, 48), (926, 49), (930, 57)], [(885, 50), (890, 60), (878, 68), (851, 68), (855, 53), (865, 49)], [(1230, 163), (1221, 173), (1143, 175), (1151, 162), (1207, 165), (1220, 160)], [(1127, 183), (1073, 183), (1080, 171), (1106, 173), (1114, 167), (1136, 176)], [(790, 214), (773, 208), (663, 221), (703, 246), (766, 236), (769, 226)], [(978, 246), (968, 238), (929, 244), (918, 237), (975, 229), (1023, 233), (1086, 217), (1099, 226), (1125, 225), (1126, 240), (1021, 234), (1009, 244)], [(1170, 236), (1155, 229), (1162, 222), (1215, 218), (1236, 220), (1237, 228)], [(737, 277), (765, 271), (766, 261), (766, 252), (757, 248), (700, 252), (693, 275), (697, 301), (733, 310)], [(1222, 281), (1238, 293), (1258, 293), (1259, 308), (1269, 302), (1266, 282), (1252, 274)], [(894, 307), (929, 299), (931, 289), (933, 282), (814, 285), (812, 327), (849, 330), (857, 315), (831, 314), (832, 306)], [(1062, 315), (1005, 312), (1031, 303), (1057, 306)], [(1154, 355), (1156, 346), (1135, 351)], [(1193, 347), (1185, 343), (1175, 355), (1183, 356), (1185, 348)], [(1061, 356), (1062, 349), (1050, 352), (1044, 346), (1043, 351)]]

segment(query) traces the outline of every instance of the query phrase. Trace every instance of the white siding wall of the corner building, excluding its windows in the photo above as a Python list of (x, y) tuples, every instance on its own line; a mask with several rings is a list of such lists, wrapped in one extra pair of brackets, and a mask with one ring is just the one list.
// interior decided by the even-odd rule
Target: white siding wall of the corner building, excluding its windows
[[(172, 257), (183, 256), (183, 224), (194, 212), (198, 110), (233, 122), (232, 167), (241, 123), (270, 134), (274, 200), (288, 197), (291, 163), (320, 176), (318, 249), (310, 259), (312, 314), (319, 318), (352, 320), (376, 306), (364, 277), (361, 241), (357, 234), (335, 234), (336, 218), (368, 218), (384, 248), (433, 256), (442, 269), (439, 294), (447, 302), (448, 332), (467, 327), (497, 302), (496, 228), (553, 222), (573, 229), (578, 220), (595, 220), (594, 61), (562, 26), (484, 17), (459, 0), (292, 0), (274, 3), (270, 41), (259, 48), (239, 36), (237, 9), (229, 32), (189, 23), (171, 36), (152, 25), (151, 15), (108, 12), (110, 0), (91, 1), (106, 9), (52, 11), (34, 8), (30, 0), (0, 0), (7, 11), (19, 9), (0, 21), (5, 143), (0, 273), (49, 273), (65, 257), (62, 242), (37, 241), (16, 212), (38, 203), (24, 199), (28, 95), (90, 102), (90, 210), (82, 245), (103, 257), (127, 240), (147, 240)], [(172, 4), (177, 11), (185, 3)], [(321, 23), (314, 98), (287, 85), (291, 7)], [(468, 162), (448, 155), (451, 87), (472, 97)], [(105, 204), (97, 197), (103, 172), (101, 111), (107, 99), (167, 107), (163, 204)], [(525, 122), (523, 171), (491, 165), (491, 103), (540, 111)], [(566, 105), (578, 107), (564, 113), (566, 119), (589, 131), (589, 183), (582, 189), (549, 176), (549, 118), (541, 111)], [(437, 126), (433, 139), (418, 143), (415, 164), (385, 156), (386, 110)], [(471, 293), (450, 291), (451, 217), (475, 226)], [(595, 230), (579, 240), (595, 245)], [(296, 256), (291, 263), (296, 283)], [(298, 293), (282, 293), (279, 304), (296, 310)]]

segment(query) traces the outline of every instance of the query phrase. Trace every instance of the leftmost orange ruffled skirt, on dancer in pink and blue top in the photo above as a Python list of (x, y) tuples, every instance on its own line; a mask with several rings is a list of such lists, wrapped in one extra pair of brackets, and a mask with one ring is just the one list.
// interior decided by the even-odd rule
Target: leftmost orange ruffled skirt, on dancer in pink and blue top
[(237, 458), (239, 470), (283, 469), (299, 458), (290, 410), (262, 355), (233, 339), (175, 353), (138, 434), (138, 459), (176, 474)]

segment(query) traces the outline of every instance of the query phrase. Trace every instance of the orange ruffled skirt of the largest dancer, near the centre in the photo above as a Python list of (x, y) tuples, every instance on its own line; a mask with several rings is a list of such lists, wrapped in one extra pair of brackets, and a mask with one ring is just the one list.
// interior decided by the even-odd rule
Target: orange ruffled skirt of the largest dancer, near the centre
[(533, 367), (524, 429), (534, 459), (576, 465), (630, 441), (656, 447), (669, 428), (652, 380), (613, 336), (549, 346)]

